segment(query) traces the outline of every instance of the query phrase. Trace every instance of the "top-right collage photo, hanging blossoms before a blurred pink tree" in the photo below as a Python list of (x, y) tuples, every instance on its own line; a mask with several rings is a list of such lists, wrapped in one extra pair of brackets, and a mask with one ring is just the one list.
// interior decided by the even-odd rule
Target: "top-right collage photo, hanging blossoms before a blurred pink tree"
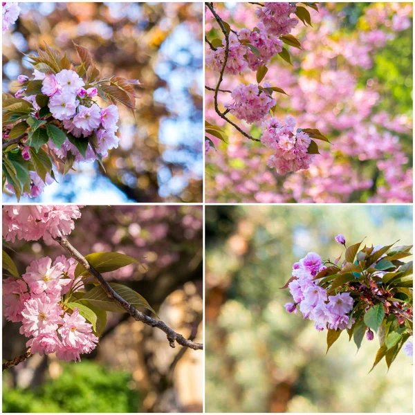
[(207, 203), (412, 203), (412, 3), (207, 3)]

